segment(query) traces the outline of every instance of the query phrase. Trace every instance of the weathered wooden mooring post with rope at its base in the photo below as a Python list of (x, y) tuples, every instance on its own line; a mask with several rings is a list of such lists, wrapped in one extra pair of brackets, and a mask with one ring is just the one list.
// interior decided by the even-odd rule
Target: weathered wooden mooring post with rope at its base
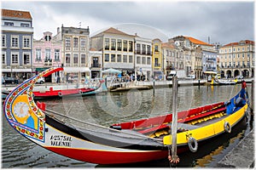
[(177, 77), (172, 79), (172, 162), (177, 163)]

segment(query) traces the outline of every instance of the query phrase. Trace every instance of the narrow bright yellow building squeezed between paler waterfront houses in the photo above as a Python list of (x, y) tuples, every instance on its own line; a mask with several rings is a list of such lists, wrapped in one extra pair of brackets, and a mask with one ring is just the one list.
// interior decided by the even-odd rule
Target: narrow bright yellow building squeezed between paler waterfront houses
[(162, 42), (156, 38), (152, 40), (152, 70), (153, 76), (157, 80), (163, 80), (163, 59), (162, 59)]

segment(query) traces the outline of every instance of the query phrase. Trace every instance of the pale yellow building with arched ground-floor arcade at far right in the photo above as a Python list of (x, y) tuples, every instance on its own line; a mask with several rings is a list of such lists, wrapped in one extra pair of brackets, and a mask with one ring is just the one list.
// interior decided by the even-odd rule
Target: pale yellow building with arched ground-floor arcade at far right
[(254, 42), (242, 40), (219, 48), (218, 68), (222, 77), (253, 77)]

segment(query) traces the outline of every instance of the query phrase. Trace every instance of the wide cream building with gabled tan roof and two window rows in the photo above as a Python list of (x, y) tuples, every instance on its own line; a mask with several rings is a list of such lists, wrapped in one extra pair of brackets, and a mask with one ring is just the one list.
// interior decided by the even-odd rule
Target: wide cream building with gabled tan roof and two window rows
[(90, 37), (90, 45), (102, 51), (102, 70), (113, 68), (125, 75), (134, 73), (134, 36), (111, 27)]

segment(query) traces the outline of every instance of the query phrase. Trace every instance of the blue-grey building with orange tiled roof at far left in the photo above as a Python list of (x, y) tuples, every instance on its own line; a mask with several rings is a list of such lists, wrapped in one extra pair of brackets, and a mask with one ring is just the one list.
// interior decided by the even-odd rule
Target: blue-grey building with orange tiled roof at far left
[(20, 81), (32, 76), (32, 16), (2, 9), (2, 72)]

